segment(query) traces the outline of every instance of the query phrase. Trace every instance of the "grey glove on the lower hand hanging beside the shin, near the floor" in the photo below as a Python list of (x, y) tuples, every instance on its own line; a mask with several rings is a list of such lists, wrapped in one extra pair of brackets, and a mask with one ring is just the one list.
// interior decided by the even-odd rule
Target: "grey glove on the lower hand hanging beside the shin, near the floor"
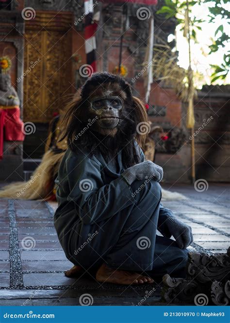
[(167, 216), (164, 221), (164, 226), (166, 230), (164, 232), (159, 231), (167, 238), (173, 236), (179, 248), (185, 249), (193, 242), (192, 228), (179, 221), (176, 217)]

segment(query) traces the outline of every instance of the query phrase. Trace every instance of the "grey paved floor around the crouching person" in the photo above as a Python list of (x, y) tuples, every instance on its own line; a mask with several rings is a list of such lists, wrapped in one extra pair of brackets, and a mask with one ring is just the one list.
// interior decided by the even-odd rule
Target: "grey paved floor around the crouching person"
[[(164, 187), (187, 197), (164, 205), (192, 227), (190, 249), (226, 252), (229, 185), (209, 185), (203, 192), (192, 185)], [(0, 305), (79, 305), (82, 297), (94, 305), (165, 305), (156, 283), (126, 287), (99, 284), (92, 276), (65, 277), (72, 264), (53, 227), (54, 208), (55, 203), (44, 201), (0, 200)]]

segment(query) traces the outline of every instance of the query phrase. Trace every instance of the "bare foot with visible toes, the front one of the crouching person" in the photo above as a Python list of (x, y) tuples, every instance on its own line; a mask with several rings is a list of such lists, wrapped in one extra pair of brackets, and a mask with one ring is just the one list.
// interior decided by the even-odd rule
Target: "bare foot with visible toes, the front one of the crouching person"
[(103, 263), (96, 274), (96, 279), (102, 283), (113, 283), (121, 285), (153, 283), (153, 279), (138, 273), (109, 268)]

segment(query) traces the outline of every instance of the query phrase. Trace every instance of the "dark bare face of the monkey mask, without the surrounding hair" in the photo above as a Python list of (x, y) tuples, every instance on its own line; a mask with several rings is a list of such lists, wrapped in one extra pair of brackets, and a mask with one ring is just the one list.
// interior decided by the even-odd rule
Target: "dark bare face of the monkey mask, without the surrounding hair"
[(120, 119), (120, 112), (124, 108), (123, 100), (119, 96), (95, 97), (90, 102), (90, 112), (98, 117), (98, 127), (114, 129)]

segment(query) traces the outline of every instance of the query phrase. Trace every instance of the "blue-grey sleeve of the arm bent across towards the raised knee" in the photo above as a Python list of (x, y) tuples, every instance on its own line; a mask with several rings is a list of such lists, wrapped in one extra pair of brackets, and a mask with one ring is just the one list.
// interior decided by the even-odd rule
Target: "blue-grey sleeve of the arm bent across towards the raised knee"
[(94, 159), (71, 156), (66, 161), (70, 193), (75, 210), (84, 224), (99, 222), (114, 216), (135, 202), (132, 191), (121, 176), (104, 185), (102, 165)]

